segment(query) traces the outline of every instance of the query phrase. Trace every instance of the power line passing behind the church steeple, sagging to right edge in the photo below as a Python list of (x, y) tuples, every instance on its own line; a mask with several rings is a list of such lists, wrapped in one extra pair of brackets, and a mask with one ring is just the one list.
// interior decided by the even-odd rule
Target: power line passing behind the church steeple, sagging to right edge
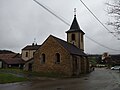
[[(45, 10), (47, 10), (48, 12), (50, 12), (52, 15), (54, 15), (56, 18), (58, 18), (59, 20), (61, 20), (62, 22), (64, 22), (66, 25), (70, 26), (70, 24), (69, 24), (68, 22), (66, 22), (64, 19), (62, 19), (61, 17), (59, 17), (57, 14), (55, 14), (55, 13), (53, 12), (53, 10), (48, 9), (47, 6), (41, 4), (40, 2), (38, 2), (38, 1), (36, 1), (36, 0), (33, 0), (33, 1), (35, 1), (38, 5), (42, 6)], [(107, 49), (109, 49), (109, 50), (120, 51), (120, 50), (115, 50), (115, 49), (109, 48), (109, 47), (107, 47), (107, 46), (105, 46), (105, 45), (103, 45), (103, 44), (101, 44), (101, 43), (99, 43), (99, 42), (91, 39), (91, 38), (88, 37), (87, 35), (86, 35), (86, 38), (88, 38), (89, 40), (93, 41), (94, 43), (96, 43), (96, 44), (98, 44), (98, 45), (100, 45), (100, 46), (102, 46), (102, 47), (104, 47), (104, 48), (107, 48)]]

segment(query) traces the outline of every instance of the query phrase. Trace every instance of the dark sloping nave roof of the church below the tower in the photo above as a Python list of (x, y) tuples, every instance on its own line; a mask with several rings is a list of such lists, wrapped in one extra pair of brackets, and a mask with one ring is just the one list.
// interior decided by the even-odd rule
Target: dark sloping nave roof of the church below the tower
[(68, 52), (74, 55), (80, 55), (80, 56), (87, 56), (81, 49), (76, 47), (75, 45), (68, 43), (62, 39), (59, 39), (55, 36), (50, 35), (53, 37), (57, 42), (59, 42)]

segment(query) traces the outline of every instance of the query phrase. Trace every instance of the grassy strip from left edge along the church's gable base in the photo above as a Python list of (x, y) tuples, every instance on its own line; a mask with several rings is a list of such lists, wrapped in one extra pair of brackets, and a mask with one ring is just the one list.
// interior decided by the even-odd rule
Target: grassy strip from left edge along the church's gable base
[[(19, 77), (21, 75), (22, 77)], [(55, 72), (31, 72), (20, 69), (0, 69), (0, 84), (32, 80), (35, 77), (64, 78), (65, 75)]]

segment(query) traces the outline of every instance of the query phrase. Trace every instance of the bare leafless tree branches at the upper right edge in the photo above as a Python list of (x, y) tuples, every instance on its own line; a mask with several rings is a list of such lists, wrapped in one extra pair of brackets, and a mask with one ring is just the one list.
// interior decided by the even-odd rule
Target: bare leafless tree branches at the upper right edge
[(111, 20), (107, 24), (114, 27), (116, 34), (120, 34), (120, 0), (111, 0), (106, 4), (107, 12), (111, 16)]

